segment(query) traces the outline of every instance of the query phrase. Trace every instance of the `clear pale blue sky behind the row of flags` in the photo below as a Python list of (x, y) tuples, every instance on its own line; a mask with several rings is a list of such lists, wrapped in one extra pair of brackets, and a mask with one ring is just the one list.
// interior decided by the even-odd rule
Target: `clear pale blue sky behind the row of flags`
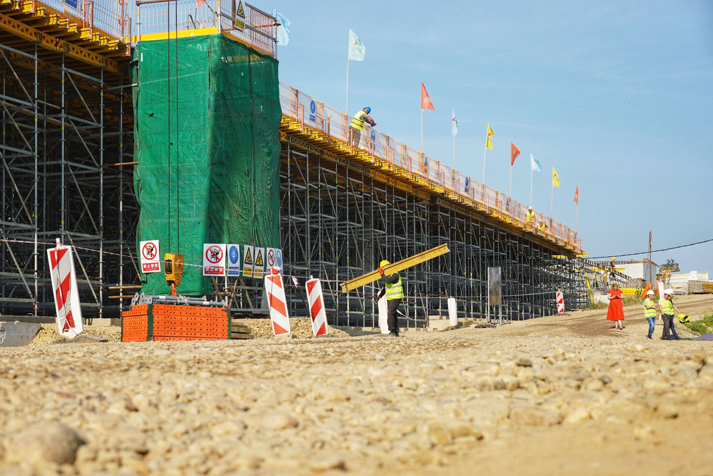
[[(277, 51), (279, 77), (344, 110), (347, 38), (366, 46), (349, 65), (349, 113), (371, 106), (376, 129), (424, 150), (486, 185), (575, 227), (590, 257), (713, 238), (713, 2), (711, 1), (334, 1), (273, 0), (291, 21)], [(631, 257), (640, 259), (644, 255)], [(682, 271), (710, 271), (713, 242), (660, 252)]]

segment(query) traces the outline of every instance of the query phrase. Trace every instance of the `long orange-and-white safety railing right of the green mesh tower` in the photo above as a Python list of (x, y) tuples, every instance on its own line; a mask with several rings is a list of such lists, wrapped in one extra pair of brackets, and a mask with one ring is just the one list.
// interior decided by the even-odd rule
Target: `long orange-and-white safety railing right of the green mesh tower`
[[(307, 126), (326, 132), (324, 123), (329, 123), (327, 134), (344, 143), (351, 143), (352, 133), (348, 125), (352, 118), (348, 115), (282, 82), (279, 83), (279, 100), (282, 113), (296, 119), (301, 127)], [(354, 144), (354, 147), (364, 150), (369, 156), (384, 160), (391, 165), (394, 172), (411, 175), (411, 178), (416, 180), (421, 178), (430, 185), (442, 187), (445, 193), (462, 197), (464, 200), (471, 200), (476, 205), (485, 207), (491, 213), (498, 214), (501, 219), (509, 221), (515, 226), (547, 237), (575, 251), (582, 249), (582, 241), (570, 227), (551, 217), (546, 217), (540, 212), (535, 212), (534, 224), (525, 223), (527, 206), (516, 202), (512, 197), (508, 197), (498, 190), (473, 180), (472, 177), (458, 172), (458, 170), (453, 170), (453, 167), (448, 167), (433, 157), (399, 143), (388, 135), (376, 132), (374, 128), (369, 128), (366, 124), (361, 133), (359, 144)], [(544, 230), (537, 229), (540, 219), (546, 225)]]

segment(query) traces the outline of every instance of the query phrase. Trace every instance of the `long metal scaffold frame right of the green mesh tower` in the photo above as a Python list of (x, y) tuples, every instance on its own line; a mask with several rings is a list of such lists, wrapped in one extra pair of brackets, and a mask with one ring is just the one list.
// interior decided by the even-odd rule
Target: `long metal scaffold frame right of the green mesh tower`
[[(377, 326), (373, 296), (378, 284), (348, 294), (341, 282), (375, 269), (381, 259), (404, 259), (438, 244), (451, 252), (402, 271), (408, 326), (447, 314), (455, 297), (458, 316), (483, 319), (488, 267), (501, 267), (503, 319), (530, 319), (556, 312), (555, 292), (565, 307), (589, 304), (584, 275), (574, 255), (544, 239), (508, 228), (441, 197), (417, 197), (383, 181), (362, 165), (284, 135), (281, 239), (284, 273), (323, 280), (330, 324)], [(335, 160), (335, 158), (337, 160)], [(304, 290), (288, 287), (296, 316), (307, 315)]]

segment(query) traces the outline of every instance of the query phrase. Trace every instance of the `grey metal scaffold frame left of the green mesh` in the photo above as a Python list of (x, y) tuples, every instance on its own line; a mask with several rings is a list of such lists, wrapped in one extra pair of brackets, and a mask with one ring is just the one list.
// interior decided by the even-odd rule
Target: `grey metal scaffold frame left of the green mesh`
[(0, 44), (0, 312), (53, 316), (46, 249), (60, 238), (73, 246), (83, 309), (113, 316), (120, 303), (106, 302), (106, 287), (137, 276), (125, 257), (138, 216), (130, 85), (17, 43)]

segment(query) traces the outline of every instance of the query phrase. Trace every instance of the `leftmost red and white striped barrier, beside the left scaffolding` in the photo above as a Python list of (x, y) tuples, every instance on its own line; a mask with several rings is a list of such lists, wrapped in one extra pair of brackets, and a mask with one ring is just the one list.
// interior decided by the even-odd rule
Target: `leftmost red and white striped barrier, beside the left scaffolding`
[(54, 290), (54, 309), (57, 311), (57, 328), (65, 337), (78, 336), (84, 327), (72, 249), (63, 246), (57, 239), (57, 246), (48, 249), (47, 256)]

